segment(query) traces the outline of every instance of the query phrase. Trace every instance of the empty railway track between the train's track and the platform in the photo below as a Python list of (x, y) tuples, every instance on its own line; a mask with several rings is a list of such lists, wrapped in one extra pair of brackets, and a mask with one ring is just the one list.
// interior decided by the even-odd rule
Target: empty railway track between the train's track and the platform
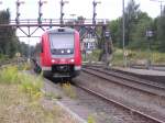
[(101, 67), (86, 67), (82, 68), (84, 72), (88, 72), (94, 76), (99, 76), (102, 79), (112, 81), (118, 85), (122, 85), (132, 89), (136, 89), (148, 94), (154, 94), (165, 98), (165, 85), (156, 83), (150, 80), (144, 80), (138, 77), (129, 76), (125, 74), (117, 72), (113, 70), (106, 70)]

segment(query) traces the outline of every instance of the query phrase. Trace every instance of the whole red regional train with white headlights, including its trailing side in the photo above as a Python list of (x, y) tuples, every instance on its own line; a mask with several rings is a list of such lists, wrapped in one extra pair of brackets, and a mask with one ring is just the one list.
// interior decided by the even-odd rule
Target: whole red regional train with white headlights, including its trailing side
[(44, 76), (56, 78), (74, 78), (79, 75), (81, 53), (79, 33), (76, 30), (69, 27), (47, 30), (36, 48), (35, 71), (43, 71)]

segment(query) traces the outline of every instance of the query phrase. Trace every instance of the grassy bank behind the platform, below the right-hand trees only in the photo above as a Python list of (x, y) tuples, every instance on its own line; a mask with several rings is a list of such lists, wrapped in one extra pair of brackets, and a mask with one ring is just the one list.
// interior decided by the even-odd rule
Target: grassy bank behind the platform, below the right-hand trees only
[[(145, 64), (151, 59), (152, 64), (165, 64), (165, 53), (147, 51), (129, 51), (127, 56), (128, 64)], [(122, 49), (116, 49), (112, 58), (113, 66), (123, 66), (123, 52)]]

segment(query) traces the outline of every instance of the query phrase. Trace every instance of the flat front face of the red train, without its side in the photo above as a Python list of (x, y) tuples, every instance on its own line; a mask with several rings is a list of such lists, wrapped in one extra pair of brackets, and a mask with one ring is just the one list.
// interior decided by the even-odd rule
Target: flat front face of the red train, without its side
[(73, 78), (81, 69), (79, 34), (76, 30), (59, 27), (48, 31), (51, 74), (57, 78)]

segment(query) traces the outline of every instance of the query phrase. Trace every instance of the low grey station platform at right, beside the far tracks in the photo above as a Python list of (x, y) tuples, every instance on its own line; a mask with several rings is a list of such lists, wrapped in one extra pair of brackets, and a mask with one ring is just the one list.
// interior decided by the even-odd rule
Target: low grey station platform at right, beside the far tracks
[(136, 69), (136, 68), (123, 68), (123, 67), (113, 67), (112, 69), (122, 71), (124, 74), (147, 79), (155, 82), (165, 83), (165, 71), (153, 70), (153, 69)]

